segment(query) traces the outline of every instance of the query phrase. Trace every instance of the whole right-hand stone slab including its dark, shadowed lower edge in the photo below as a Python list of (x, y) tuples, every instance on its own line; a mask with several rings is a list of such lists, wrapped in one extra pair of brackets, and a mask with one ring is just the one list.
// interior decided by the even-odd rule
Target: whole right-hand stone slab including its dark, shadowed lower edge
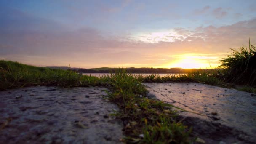
[[(207, 136), (205, 139), (208, 139), (208, 143), (256, 142), (254, 94), (200, 83), (145, 83), (145, 85), (157, 99), (190, 111), (179, 114), (187, 117), (184, 123), (193, 126), (201, 136)], [(209, 131), (212, 132), (208, 133)]]

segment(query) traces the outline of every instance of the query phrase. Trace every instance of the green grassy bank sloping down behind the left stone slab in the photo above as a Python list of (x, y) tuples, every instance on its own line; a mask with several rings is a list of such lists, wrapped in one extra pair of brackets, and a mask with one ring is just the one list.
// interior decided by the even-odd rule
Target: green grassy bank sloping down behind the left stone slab
[(98, 77), (78, 75), (72, 70), (34, 67), (18, 62), (0, 60), (0, 90), (33, 85), (74, 87), (101, 84)]

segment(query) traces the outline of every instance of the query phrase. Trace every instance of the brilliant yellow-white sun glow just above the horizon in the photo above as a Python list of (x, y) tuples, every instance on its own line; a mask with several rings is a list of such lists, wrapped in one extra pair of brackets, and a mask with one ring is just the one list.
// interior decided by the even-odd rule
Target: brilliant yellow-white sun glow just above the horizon
[(218, 57), (215, 56), (201, 56), (198, 54), (183, 54), (171, 56), (176, 58), (173, 62), (168, 64), (169, 68), (181, 67), (184, 69), (205, 69), (216, 68), (218, 66)]

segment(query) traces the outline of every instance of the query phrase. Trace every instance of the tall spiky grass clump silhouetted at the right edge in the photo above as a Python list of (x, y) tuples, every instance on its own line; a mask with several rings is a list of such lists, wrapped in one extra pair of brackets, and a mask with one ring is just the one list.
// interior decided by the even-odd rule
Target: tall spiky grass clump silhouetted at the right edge
[(231, 49), (227, 58), (221, 59), (221, 68), (226, 68), (224, 80), (228, 83), (256, 86), (256, 47)]

